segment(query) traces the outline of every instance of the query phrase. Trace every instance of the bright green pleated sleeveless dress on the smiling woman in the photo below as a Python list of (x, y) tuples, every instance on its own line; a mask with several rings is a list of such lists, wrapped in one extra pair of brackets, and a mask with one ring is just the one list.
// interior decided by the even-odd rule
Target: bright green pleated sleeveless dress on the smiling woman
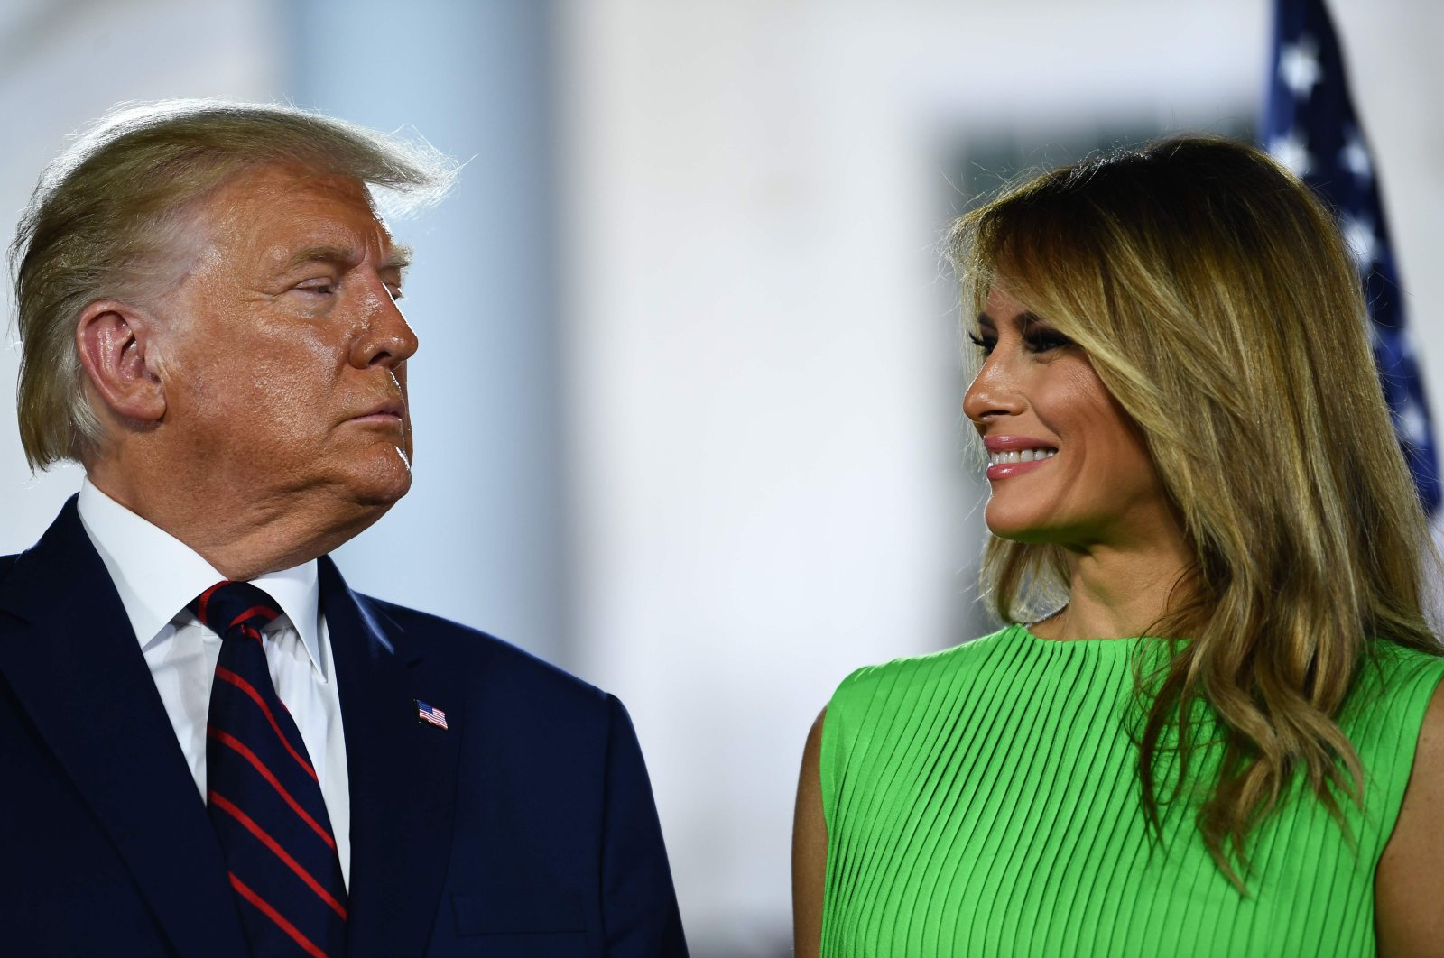
[(1295, 776), (1242, 896), (1174, 804), (1151, 841), (1132, 651), (1024, 626), (849, 675), (822, 734), (822, 954), (1373, 955), (1373, 871), (1444, 658), (1379, 643), (1340, 714), (1354, 844)]

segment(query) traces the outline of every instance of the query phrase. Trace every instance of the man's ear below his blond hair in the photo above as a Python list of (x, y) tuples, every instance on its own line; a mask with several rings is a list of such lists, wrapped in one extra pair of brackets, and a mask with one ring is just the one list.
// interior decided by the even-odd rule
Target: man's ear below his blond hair
[(75, 348), (91, 385), (116, 416), (155, 423), (166, 411), (155, 332), (155, 320), (126, 303), (95, 300), (81, 310)]

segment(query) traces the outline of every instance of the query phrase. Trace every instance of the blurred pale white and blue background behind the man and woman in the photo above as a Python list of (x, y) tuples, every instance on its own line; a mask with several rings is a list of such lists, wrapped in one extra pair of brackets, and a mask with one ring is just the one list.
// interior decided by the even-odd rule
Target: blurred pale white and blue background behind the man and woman
[[(289, 98), (471, 160), (399, 224), (416, 485), (342, 566), (619, 694), (695, 952), (780, 955), (813, 716), (852, 668), (985, 628), (936, 247), (960, 160), (1248, 128), (1268, 7), (12, 0), (0, 206), (134, 98)], [(1444, 7), (1331, 9), (1437, 400)], [(0, 417), (0, 550), (78, 482), (32, 479)]]

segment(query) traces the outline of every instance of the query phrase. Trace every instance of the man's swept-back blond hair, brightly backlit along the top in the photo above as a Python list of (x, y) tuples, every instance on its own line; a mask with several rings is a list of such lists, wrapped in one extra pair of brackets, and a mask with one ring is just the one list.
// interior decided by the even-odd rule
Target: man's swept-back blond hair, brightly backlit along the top
[(348, 176), (432, 202), (455, 164), (425, 143), (274, 104), (178, 100), (123, 107), (40, 176), (20, 218), (14, 273), (20, 441), (32, 469), (103, 441), (75, 323), (100, 299), (142, 302), (185, 268), (178, 227), (215, 189), (269, 164)]

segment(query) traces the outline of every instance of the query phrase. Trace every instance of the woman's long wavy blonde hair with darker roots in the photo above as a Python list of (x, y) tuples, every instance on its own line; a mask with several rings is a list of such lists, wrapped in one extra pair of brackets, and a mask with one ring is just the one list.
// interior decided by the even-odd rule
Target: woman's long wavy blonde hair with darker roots
[[(1336, 718), (1373, 641), (1441, 652), (1421, 612), (1427, 521), (1354, 264), (1302, 183), (1207, 137), (1044, 173), (957, 221), (949, 245), (975, 316), (1006, 286), (1142, 429), (1193, 548), (1149, 629), (1175, 641), (1136, 667), (1144, 814), (1161, 835), (1213, 737), (1197, 827), (1243, 890), (1233, 864), (1248, 873), (1245, 840), (1291, 776), (1341, 825), (1339, 799), (1362, 801)], [(983, 581), (1025, 622), (1066, 597), (1067, 564), (993, 537)], [(1184, 718), (1207, 710), (1213, 731)]]

